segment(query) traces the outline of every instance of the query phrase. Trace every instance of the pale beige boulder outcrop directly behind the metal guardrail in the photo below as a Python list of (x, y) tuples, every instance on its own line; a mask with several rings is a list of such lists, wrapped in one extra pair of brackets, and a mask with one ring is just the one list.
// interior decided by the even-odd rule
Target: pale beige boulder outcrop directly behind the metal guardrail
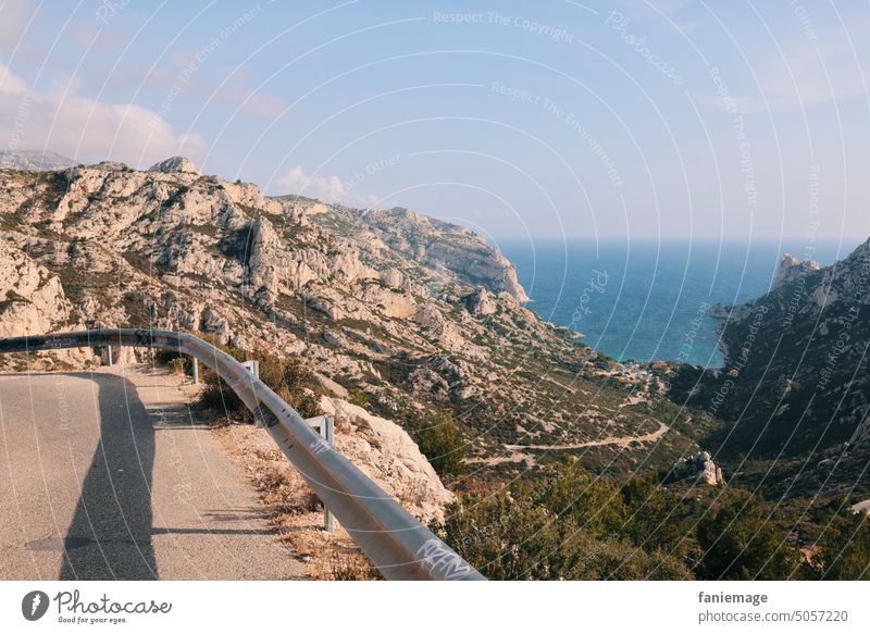
[(453, 495), (407, 432), (340, 399), (323, 397), (320, 405), (335, 418), (338, 451), (421, 522), (444, 521)]

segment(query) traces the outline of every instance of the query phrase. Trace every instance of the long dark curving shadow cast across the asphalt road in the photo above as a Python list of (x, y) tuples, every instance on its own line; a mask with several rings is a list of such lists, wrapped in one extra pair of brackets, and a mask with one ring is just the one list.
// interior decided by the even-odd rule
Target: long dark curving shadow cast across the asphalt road
[(136, 388), (114, 374), (94, 381), (100, 442), (64, 539), (61, 580), (151, 580), (151, 475), (154, 428)]

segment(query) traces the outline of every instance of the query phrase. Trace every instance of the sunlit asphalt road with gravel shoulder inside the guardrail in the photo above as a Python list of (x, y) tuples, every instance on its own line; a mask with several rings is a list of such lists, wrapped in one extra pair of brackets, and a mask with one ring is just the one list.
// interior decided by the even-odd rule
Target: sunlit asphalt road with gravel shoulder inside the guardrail
[(299, 577), (177, 383), (0, 375), (0, 579)]

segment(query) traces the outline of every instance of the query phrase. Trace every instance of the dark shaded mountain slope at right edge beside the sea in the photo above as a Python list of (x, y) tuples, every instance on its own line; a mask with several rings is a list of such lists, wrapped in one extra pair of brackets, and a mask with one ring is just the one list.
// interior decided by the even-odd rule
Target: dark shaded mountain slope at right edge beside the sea
[(706, 443), (776, 494), (870, 490), (870, 240), (832, 266), (783, 256), (772, 290), (721, 309), (722, 371), (678, 399), (726, 424)]

